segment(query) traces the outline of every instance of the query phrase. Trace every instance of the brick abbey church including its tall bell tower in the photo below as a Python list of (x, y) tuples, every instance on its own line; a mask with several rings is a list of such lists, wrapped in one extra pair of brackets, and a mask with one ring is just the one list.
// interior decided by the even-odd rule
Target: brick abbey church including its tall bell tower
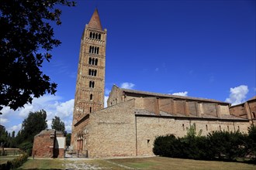
[(81, 36), (71, 134), (74, 150), (86, 152), (89, 158), (154, 155), (157, 136), (182, 137), (192, 124), (202, 135), (211, 131), (247, 133), (256, 124), (256, 97), (231, 107), (219, 100), (113, 85), (104, 108), (106, 33), (95, 9)]

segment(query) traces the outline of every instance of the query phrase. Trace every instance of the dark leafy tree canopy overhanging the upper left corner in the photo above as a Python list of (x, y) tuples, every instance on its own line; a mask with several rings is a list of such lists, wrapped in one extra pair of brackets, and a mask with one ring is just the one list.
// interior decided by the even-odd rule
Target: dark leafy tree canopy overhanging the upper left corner
[(69, 0), (1, 0), (0, 3), (0, 110), (13, 110), (30, 103), (33, 97), (54, 94), (57, 84), (40, 70), (48, 53), (61, 41), (54, 39), (49, 22), (61, 25), (61, 5)]

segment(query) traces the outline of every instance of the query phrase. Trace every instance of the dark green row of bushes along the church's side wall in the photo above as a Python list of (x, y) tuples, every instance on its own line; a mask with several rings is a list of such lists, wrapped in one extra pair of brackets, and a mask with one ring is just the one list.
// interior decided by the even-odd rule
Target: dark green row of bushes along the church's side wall
[[(201, 132), (202, 133), (202, 132)], [(240, 131), (213, 131), (207, 136), (196, 135), (195, 126), (188, 129), (183, 138), (174, 135), (159, 136), (154, 141), (155, 155), (172, 158), (234, 161), (251, 156), (256, 158), (256, 128), (251, 126), (248, 134)]]

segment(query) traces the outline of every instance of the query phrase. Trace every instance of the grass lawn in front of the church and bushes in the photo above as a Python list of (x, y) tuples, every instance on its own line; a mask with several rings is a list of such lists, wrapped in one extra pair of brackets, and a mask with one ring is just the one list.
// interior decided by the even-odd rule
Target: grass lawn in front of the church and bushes
[(20, 169), (256, 169), (256, 165), (237, 162), (209, 162), (179, 158), (112, 159), (29, 159)]

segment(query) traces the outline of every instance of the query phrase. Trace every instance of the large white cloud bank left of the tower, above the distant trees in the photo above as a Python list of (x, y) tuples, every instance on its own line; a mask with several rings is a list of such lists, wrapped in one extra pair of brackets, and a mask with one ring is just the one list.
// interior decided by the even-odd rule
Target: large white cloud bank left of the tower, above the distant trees
[[(19, 131), (22, 121), (28, 116), (29, 112), (37, 110), (46, 110), (48, 128), (51, 128), (51, 121), (54, 116), (61, 118), (61, 121), (72, 122), (74, 99), (61, 101), (61, 97), (54, 95), (44, 95), (40, 98), (33, 99), (32, 104), (25, 104), (18, 110), (11, 110), (9, 107), (2, 109), (1, 124), (8, 131)], [(16, 124), (20, 124), (19, 126)], [(65, 124), (66, 131), (71, 131), (71, 124)], [(19, 129), (18, 129), (19, 128)]]

